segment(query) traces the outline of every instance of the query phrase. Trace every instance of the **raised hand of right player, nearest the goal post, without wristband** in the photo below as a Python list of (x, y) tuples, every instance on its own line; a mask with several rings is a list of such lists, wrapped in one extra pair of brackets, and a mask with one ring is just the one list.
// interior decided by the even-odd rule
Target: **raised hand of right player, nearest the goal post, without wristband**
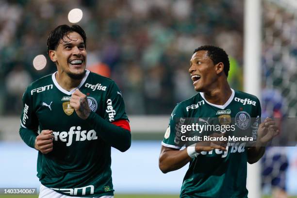
[(266, 146), (266, 144), (279, 133), (280, 130), (276, 126), (275, 121), (267, 117), (264, 122), (259, 125), (257, 143), (259, 146)]

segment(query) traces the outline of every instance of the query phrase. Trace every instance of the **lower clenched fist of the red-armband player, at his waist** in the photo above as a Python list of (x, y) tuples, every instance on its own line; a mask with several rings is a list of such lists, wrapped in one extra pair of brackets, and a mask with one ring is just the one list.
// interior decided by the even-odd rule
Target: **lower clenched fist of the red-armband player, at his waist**
[(35, 149), (39, 150), (43, 154), (49, 153), (53, 148), (53, 137), (52, 130), (42, 130), (36, 137), (34, 145)]

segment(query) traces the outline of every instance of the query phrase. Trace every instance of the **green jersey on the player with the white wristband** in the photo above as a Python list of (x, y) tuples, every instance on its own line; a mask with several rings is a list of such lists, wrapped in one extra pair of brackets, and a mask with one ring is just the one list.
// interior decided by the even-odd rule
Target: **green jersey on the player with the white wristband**
[[(198, 118), (201, 123), (216, 120), (220, 124), (229, 120), (235, 125), (235, 134), (247, 131), (247, 136), (256, 139), (255, 129), (261, 122), (260, 117), (260, 102), (253, 95), (232, 89), (232, 95), (224, 105), (214, 105), (204, 98), (203, 93), (198, 93), (177, 104), (162, 145), (177, 149), (191, 145), (181, 138), (181, 125), (187, 118)], [(203, 151), (190, 161), (181, 187), (181, 198), (247, 198), (247, 145), (228, 145), (227, 151)]]

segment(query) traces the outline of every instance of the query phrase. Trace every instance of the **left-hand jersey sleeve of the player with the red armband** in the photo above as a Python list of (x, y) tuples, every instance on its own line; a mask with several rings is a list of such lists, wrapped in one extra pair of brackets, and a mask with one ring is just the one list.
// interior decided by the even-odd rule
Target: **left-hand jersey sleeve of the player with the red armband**
[(22, 140), (34, 148), (34, 141), (38, 135), (38, 118), (34, 113), (33, 99), (29, 88), (23, 94), (23, 111), (20, 118), (19, 134)]

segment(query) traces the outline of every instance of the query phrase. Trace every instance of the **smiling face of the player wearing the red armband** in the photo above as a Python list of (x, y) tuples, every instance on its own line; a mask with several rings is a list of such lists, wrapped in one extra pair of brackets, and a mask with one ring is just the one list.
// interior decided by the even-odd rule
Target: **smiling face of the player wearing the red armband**
[(75, 80), (83, 78), (86, 54), (82, 36), (76, 32), (67, 33), (55, 50), (49, 50), (49, 57), (56, 63), (58, 71)]

